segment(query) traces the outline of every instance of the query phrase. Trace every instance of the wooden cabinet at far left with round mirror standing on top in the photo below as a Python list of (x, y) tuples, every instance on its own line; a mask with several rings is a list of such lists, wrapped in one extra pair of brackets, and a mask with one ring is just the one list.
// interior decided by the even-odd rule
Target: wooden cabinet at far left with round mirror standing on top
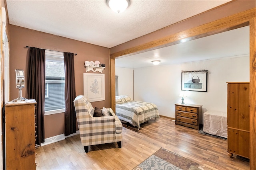
[(35, 100), (5, 105), (6, 169), (35, 170)]

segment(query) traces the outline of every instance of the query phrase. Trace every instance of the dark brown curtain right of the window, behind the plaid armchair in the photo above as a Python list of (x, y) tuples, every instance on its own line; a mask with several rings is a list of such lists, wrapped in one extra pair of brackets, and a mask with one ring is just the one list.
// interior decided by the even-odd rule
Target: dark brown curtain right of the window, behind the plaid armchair
[(76, 133), (76, 98), (74, 54), (64, 52), (65, 67), (65, 136)]

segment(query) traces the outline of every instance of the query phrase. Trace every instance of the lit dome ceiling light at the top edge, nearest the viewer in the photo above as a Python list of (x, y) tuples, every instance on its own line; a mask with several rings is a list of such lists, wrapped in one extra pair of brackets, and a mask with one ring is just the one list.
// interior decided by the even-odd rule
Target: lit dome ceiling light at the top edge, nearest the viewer
[(130, 5), (130, 0), (106, 0), (108, 6), (114, 12), (120, 13)]

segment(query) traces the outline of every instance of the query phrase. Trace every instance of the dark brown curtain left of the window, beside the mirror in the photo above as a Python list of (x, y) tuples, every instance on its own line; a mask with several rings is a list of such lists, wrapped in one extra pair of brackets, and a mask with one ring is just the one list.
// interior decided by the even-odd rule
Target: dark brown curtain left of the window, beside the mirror
[(36, 144), (44, 143), (45, 50), (30, 47), (28, 99), (36, 100)]

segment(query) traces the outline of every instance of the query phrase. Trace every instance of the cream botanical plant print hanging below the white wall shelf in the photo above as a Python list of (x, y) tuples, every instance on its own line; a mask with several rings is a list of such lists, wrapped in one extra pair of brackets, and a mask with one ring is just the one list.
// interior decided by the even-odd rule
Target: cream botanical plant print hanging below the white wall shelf
[(105, 100), (105, 74), (84, 73), (84, 96), (90, 102)]

